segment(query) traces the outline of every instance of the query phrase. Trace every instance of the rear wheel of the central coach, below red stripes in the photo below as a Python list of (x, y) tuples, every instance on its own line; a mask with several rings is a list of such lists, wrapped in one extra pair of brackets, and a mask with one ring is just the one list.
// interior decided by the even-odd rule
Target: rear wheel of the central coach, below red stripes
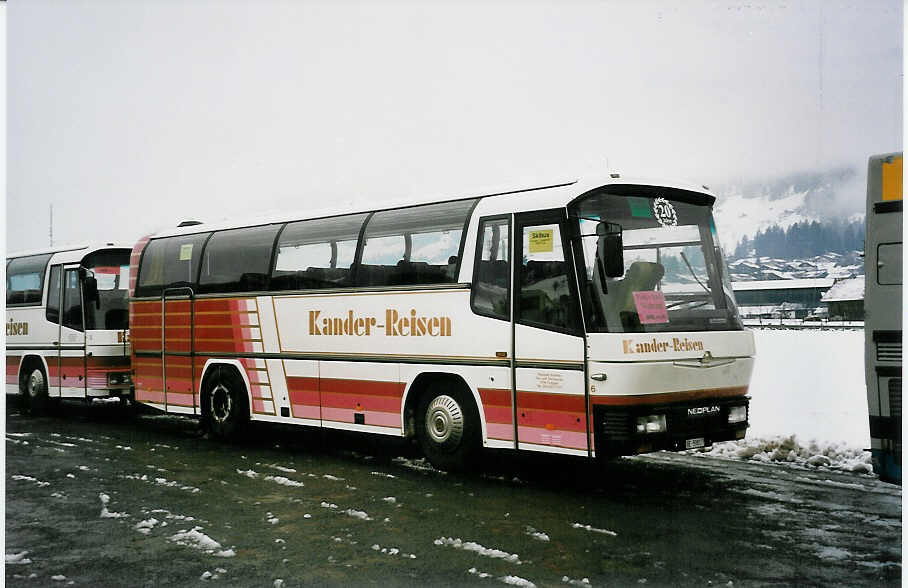
[(249, 421), (246, 385), (233, 368), (215, 368), (202, 395), (205, 428), (218, 439), (236, 437)]

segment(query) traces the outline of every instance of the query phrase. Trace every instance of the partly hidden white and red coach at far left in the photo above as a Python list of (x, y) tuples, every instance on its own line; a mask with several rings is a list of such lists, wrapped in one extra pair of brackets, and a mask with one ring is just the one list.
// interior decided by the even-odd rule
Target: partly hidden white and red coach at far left
[(129, 398), (130, 247), (6, 258), (6, 393), (40, 412), (62, 398)]

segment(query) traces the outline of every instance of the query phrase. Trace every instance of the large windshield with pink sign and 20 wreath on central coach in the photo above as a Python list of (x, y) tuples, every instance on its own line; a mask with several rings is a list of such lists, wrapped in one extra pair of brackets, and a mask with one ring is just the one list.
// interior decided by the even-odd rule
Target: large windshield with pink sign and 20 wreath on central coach
[[(695, 198), (665, 198), (655, 188), (634, 194), (599, 192), (572, 210), (579, 222), (586, 266), (587, 330), (741, 329), (709, 204), (694, 203)], [(605, 277), (605, 260), (597, 259), (599, 239), (604, 238), (597, 236), (601, 222), (621, 228), (624, 272), (620, 277)]]

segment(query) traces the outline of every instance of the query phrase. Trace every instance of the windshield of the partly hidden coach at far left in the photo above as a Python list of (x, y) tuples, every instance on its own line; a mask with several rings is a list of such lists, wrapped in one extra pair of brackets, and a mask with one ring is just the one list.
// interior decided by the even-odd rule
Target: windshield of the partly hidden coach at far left
[(82, 265), (91, 270), (98, 283), (97, 302), (85, 304), (85, 329), (128, 329), (129, 252), (96, 252)]

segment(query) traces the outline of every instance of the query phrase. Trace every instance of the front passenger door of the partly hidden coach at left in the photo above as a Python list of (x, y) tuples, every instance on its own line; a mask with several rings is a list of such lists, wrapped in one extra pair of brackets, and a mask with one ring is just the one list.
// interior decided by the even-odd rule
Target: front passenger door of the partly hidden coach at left
[(63, 268), (62, 294), (57, 382), (60, 396), (84, 398), (88, 382), (85, 377), (85, 308), (79, 266)]

